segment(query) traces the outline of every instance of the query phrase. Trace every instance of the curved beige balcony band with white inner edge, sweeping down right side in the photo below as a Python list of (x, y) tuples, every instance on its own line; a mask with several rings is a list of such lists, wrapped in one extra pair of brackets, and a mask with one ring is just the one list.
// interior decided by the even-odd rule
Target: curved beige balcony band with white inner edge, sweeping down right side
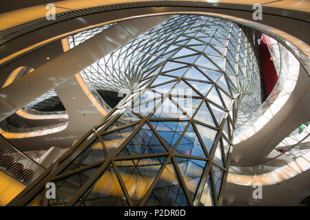
[[(293, 82), (295, 79), (290, 77), (291, 72), (288, 74), (288, 80)], [(301, 66), (295, 83), (295, 89), (291, 88), (293, 91), (281, 91), (282, 95), (271, 104), (260, 120), (236, 137), (232, 164), (254, 166), (265, 162), (273, 148), (293, 129), (309, 121), (310, 78)]]

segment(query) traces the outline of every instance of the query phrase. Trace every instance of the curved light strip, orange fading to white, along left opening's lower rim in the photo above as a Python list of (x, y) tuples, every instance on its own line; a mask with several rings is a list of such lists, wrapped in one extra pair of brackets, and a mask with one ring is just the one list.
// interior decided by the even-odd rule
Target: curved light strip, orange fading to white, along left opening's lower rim
[(39, 131), (30, 131), (30, 132), (24, 132), (24, 133), (14, 133), (14, 132), (7, 132), (0, 128), (0, 133), (3, 135), (3, 137), (6, 137), (7, 139), (20, 139), (25, 137), (38, 137), (43, 135), (49, 135), (51, 133), (57, 133), (60, 131), (63, 131), (67, 128), (68, 122), (62, 122), (61, 126), (57, 126), (52, 129), (38, 129)]

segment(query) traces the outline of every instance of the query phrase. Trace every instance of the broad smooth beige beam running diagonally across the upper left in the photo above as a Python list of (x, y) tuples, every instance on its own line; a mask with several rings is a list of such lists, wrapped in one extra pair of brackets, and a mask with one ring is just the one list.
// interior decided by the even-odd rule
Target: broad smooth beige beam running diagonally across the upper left
[[(120, 22), (1, 89), (0, 102), (3, 108), (0, 120), (167, 18), (148, 17)], [(28, 91), (28, 96), (24, 96), (24, 91)]]

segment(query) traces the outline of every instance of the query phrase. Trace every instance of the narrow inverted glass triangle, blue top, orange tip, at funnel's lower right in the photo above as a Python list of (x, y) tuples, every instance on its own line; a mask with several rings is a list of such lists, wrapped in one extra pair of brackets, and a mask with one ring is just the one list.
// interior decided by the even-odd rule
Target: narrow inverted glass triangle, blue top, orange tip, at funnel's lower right
[(189, 195), (194, 200), (206, 162), (198, 159), (176, 157), (176, 163), (183, 176)]

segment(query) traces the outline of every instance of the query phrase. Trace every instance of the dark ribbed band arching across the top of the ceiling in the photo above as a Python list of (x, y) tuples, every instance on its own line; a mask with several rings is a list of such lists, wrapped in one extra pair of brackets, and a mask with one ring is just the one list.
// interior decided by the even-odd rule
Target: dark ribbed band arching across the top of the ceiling
[[(88, 14), (95, 14), (98, 12), (107, 12), (111, 10), (121, 10), (126, 8), (141, 8), (141, 7), (150, 7), (150, 6), (181, 6), (181, 7), (202, 7), (202, 8), (218, 8), (218, 9), (234, 9), (241, 11), (254, 11), (251, 5), (243, 5), (243, 4), (229, 4), (229, 3), (207, 3), (207, 2), (197, 2), (197, 1), (142, 1), (142, 2), (133, 2), (133, 3), (118, 3), (114, 5), (102, 5), (96, 6), (92, 8), (85, 8), (81, 10), (72, 10), (70, 12), (64, 12), (61, 14), (56, 14), (58, 17), (57, 20), (47, 20), (45, 18), (37, 19), (34, 21), (30, 21), (28, 23), (23, 23), (21, 25), (17, 25), (13, 28), (9, 28), (7, 30), (3, 30), (0, 32), (0, 46), (5, 45), (12, 39), (15, 39), (23, 34), (27, 34), (29, 32), (33, 32), (35, 30), (39, 30), (40, 28), (44, 28), (48, 25), (52, 25), (54, 23), (59, 23), (61, 21), (66, 21), (68, 19), (73, 19), (76, 17), (81, 17)], [(269, 13), (263, 12), (263, 14), (273, 14), (278, 15), (280, 17), (286, 17), (290, 19), (295, 19), (298, 21), (303, 21), (310, 23), (309, 13), (300, 12), (296, 10), (286, 10), (281, 8), (271, 8), (263, 6), (263, 8), (268, 10)], [(308, 16), (307, 16), (308, 15)]]

